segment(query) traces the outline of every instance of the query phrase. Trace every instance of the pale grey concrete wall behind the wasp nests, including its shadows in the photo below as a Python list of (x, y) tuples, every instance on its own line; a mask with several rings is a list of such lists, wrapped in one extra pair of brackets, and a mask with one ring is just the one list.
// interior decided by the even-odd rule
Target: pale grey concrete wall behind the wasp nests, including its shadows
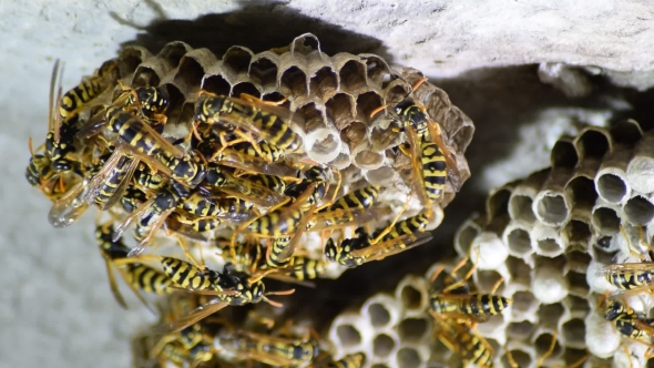
[[(133, 299), (132, 310), (120, 309), (109, 293), (93, 216), (52, 228), (48, 201), (23, 177), (28, 137), (39, 143), (45, 134), (54, 59), (65, 61), (71, 88), (124, 42), (156, 51), (182, 39), (219, 54), (314, 32), (328, 53), (380, 53), (448, 91), (478, 125), (468, 155), (473, 178), (448, 207), (437, 244), (347, 273), (344, 283), (359, 285), (351, 295), (319, 285), (314, 297), (329, 315), (405, 272), (422, 273), (447, 253), (457, 224), (482, 208), (486, 191), (546, 166), (549, 146), (578, 121), (648, 121), (650, 94), (633, 88), (652, 84), (653, 13), (648, 1), (612, 0), (0, 1), (0, 367), (126, 367), (129, 336), (152, 319)], [(583, 96), (541, 83), (541, 62), (593, 67), (562, 83), (585, 85)]]

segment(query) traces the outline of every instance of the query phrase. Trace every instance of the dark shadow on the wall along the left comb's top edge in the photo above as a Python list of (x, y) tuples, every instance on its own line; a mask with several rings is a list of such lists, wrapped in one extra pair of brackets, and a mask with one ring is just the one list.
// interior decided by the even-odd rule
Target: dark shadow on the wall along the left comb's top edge
[(194, 20), (165, 19), (159, 4), (152, 0), (146, 2), (160, 19), (145, 28), (111, 13), (117, 22), (142, 31), (122, 47), (140, 45), (156, 53), (171, 41), (184, 41), (221, 57), (233, 45), (246, 47), (257, 53), (288, 45), (296, 37), (310, 32), (318, 37), (321, 51), (329, 55), (338, 52), (376, 53), (392, 62), (381, 41), (309, 18), (283, 2), (243, 1), (243, 8), (237, 11), (206, 14)]

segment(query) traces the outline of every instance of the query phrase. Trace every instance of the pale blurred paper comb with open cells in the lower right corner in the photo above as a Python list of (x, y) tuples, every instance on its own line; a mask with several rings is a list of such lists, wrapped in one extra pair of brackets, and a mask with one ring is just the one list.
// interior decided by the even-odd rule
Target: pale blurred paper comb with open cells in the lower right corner
[[(606, 282), (609, 272), (603, 267), (640, 262), (640, 254), (647, 257), (643, 239), (652, 238), (654, 208), (647, 195), (652, 190), (645, 186), (646, 167), (654, 157), (650, 135), (627, 120), (611, 129), (586, 126), (576, 137), (562, 137), (551, 152), (551, 167), (493, 191), (484, 216), (474, 216), (458, 229), (459, 259), (471, 260), (459, 274), (471, 270), (477, 293), (512, 300), (507, 310), (476, 327), (492, 348), (495, 366), (647, 365), (647, 346), (622, 336), (605, 319), (603, 295), (615, 287)], [(461, 365), (436, 340), (438, 326), (433, 337), (422, 335), (423, 327), (415, 329), (425, 338), (421, 347), (427, 354), (420, 348), (405, 355), (398, 350), (411, 346), (407, 343), (411, 338), (401, 333), (403, 321), (433, 325), (427, 305), (433, 289), (429, 279), (443, 266), (450, 267), (436, 264), (426, 278), (408, 276), (395, 296), (372, 297), (359, 311), (337, 317), (330, 338), (345, 354), (374, 347), (380, 336), (389, 341), (386, 359), (396, 359), (400, 367), (428, 361)], [(646, 292), (626, 299), (642, 320), (652, 315), (652, 301)], [(387, 323), (377, 327), (376, 320)], [(365, 351), (370, 360), (378, 359), (377, 350)]]

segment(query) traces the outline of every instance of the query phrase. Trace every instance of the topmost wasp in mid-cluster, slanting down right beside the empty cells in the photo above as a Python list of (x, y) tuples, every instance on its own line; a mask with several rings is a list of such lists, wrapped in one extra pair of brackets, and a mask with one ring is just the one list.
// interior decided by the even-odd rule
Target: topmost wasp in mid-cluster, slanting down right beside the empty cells
[[(270, 105), (254, 96), (242, 94), (239, 99), (216, 95), (200, 91), (195, 104), (196, 124), (214, 124), (235, 127), (231, 132), (239, 136), (241, 142), (248, 142), (262, 157), (266, 157), (257, 140), (269, 142), (288, 153), (303, 151), (303, 140), (290, 129), (296, 122), (303, 126), (302, 119), (288, 110)], [(227, 143), (224, 132), (219, 134), (221, 145), (226, 147), (238, 143)]]

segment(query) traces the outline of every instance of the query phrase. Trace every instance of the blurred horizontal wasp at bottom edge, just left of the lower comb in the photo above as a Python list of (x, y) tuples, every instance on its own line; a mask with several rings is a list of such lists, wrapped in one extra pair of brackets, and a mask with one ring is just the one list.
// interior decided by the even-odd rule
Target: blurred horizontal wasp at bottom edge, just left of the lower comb
[(239, 359), (256, 360), (274, 367), (306, 366), (319, 352), (318, 343), (310, 338), (286, 338), (249, 331), (222, 337), (219, 344), (236, 351)]

